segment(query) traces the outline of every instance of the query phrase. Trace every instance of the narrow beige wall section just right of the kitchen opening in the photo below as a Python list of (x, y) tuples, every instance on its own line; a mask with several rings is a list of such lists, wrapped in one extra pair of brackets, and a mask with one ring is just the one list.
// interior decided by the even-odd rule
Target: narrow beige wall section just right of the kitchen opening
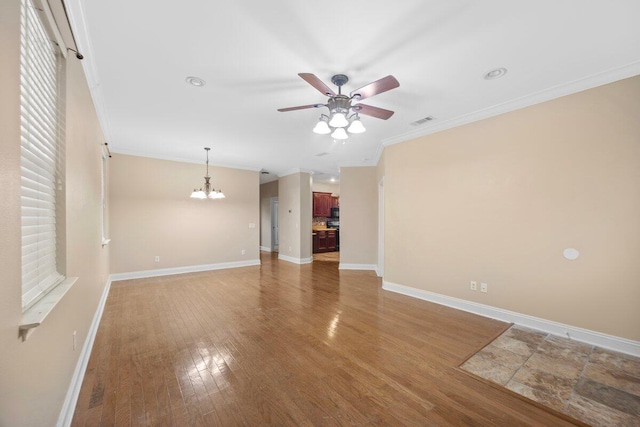
[(378, 181), (376, 167), (340, 168), (340, 264), (376, 264)]

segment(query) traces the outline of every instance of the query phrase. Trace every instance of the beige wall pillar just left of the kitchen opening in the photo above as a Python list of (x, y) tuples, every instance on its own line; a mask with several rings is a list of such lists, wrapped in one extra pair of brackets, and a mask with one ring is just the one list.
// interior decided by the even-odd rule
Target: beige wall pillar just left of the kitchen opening
[(280, 255), (305, 260), (311, 253), (311, 176), (294, 173), (278, 180)]

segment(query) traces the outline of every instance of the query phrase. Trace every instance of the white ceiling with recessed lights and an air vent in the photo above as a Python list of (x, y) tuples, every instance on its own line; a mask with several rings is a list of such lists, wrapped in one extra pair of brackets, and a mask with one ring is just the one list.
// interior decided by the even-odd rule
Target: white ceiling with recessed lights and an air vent
[[(383, 145), (640, 74), (637, 0), (66, 3), (112, 151), (204, 163), (210, 146), (212, 164), (270, 177), (328, 180)], [(392, 74), (365, 103), (396, 113), (345, 144), (316, 135), (323, 111), (277, 111), (326, 102), (300, 72), (334, 89), (344, 73), (346, 93)]]

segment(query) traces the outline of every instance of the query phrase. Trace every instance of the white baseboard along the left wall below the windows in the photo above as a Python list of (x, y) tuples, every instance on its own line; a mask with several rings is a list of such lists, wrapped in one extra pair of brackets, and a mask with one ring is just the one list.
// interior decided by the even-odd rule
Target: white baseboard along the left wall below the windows
[(76, 369), (73, 371), (73, 377), (71, 377), (71, 383), (69, 384), (69, 389), (67, 390), (67, 395), (64, 398), (62, 410), (60, 411), (60, 416), (56, 423), (56, 426), (58, 427), (68, 427), (71, 425), (71, 421), (73, 420), (73, 413), (75, 412), (76, 403), (78, 403), (78, 396), (80, 395), (80, 389), (82, 388), (82, 380), (84, 380), (84, 373), (87, 370), (87, 365), (89, 364), (91, 349), (93, 348), (93, 342), (96, 339), (98, 326), (100, 326), (100, 319), (102, 319), (102, 312), (104, 311), (104, 306), (107, 302), (109, 289), (111, 289), (111, 282), (111, 277), (109, 277), (104, 290), (102, 291), (98, 308), (96, 308), (96, 312), (93, 315), (91, 326), (87, 332), (87, 338), (84, 340), (80, 357), (76, 363)]

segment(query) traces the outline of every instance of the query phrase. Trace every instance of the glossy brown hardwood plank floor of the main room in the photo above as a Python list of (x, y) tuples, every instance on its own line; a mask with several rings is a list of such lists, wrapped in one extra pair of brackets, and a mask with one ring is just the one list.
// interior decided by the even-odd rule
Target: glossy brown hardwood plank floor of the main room
[(457, 368), (507, 324), (276, 256), (114, 282), (73, 425), (570, 425)]

